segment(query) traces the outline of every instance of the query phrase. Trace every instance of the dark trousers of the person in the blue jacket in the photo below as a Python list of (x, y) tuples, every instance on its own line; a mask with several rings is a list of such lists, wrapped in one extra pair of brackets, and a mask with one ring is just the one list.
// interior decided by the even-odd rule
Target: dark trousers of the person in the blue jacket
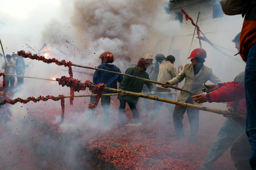
[[(109, 108), (110, 108), (110, 96), (101, 96), (101, 106), (104, 109), (104, 119), (105, 122), (109, 122)], [(90, 103), (94, 104), (95, 96), (90, 97)], [(94, 108), (89, 109), (89, 119), (93, 118), (94, 110), (98, 105), (95, 105)]]

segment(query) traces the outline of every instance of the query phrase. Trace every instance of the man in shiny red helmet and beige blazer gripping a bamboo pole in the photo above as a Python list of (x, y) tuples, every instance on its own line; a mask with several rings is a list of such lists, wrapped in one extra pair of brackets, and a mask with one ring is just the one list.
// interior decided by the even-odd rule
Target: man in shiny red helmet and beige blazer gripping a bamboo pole
[[(212, 69), (206, 67), (203, 63), (205, 62), (206, 51), (202, 48), (196, 48), (192, 51), (188, 59), (191, 59), (190, 64), (186, 64), (181, 70), (181, 73), (178, 74), (172, 80), (165, 82), (165, 84), (176, 85), (180, 83), (185, 78), (185, 83), (183, 89), (190, 90), (193, 92), (202, 93), (202, 84), (210, 80), (211, 82), (217, 84), (221, 83), (220, 79), (213, 74)], [(163, 87), (168, 88), (167, 85)], [(190, 104), (197, 104), (194, 102), (191, 97), (193, 95), (187, 92), (180, 92), (178, 96), (178, 101), (186, 102)], [(180, 139), (184, 137), (183, 131), (183, 115), (187, 110), (188, 120), (190, 123), (190, 137), (189, 142), (191, 144), (195, 143), (197, 140), (198, 126), (199, 126), (199, 110), (187, 108), (183, 106), (176, 105), (172, 114), (174, 129), (176, 131), (175, 139)]]

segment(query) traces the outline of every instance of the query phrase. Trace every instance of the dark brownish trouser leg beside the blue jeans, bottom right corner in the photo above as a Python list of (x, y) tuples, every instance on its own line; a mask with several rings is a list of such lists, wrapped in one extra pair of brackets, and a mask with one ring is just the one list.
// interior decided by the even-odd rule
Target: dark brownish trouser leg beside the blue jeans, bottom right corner
[(249, 157), (252, 148), (245, 131), (237, 137), (231, 145), (230, 156), (238, 170), (251, 169)]

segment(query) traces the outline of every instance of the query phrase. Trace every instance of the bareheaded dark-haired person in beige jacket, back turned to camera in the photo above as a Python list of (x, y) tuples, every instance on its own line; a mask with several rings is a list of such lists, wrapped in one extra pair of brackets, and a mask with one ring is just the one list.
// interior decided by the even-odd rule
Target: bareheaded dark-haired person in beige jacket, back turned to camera
[[(168, 55), (166, 57), (166, 61), (159, 65), (157, 82), (164, 83), (168, 80), (172, 80), (172, 78), (176, 77), (181, 72), (183, 66), (179, 66), (179, 69), (176, 70), (176, 67), (173, 65), (174, 62), (175, 62), (175, 57), (173, 55)], [(162, 85), (156, 85), (156, 92), (171, 92), (171, 89), (170, 89), (170, 87), (166, 89), (166, 88), (162, 87)], [(173, 100), (172, 94), (159, 94), (159, 95), (157, 95), (157, 97), (162, 97), (162, 98)], [(172, 114), (175, 105), (173, 105), (171, 103), (165, 103), (165, 104), (166, 104), (168, 110), (170, 111), (170, 113)], [(151, 112), (152, 120), (156, 119), (156, 116), (157, 116), (159, 110), (161, 109), (162, 105), (163, 105), (163, 102), (161, 102), (161, 101), (155, 102), (152, 112)]]

